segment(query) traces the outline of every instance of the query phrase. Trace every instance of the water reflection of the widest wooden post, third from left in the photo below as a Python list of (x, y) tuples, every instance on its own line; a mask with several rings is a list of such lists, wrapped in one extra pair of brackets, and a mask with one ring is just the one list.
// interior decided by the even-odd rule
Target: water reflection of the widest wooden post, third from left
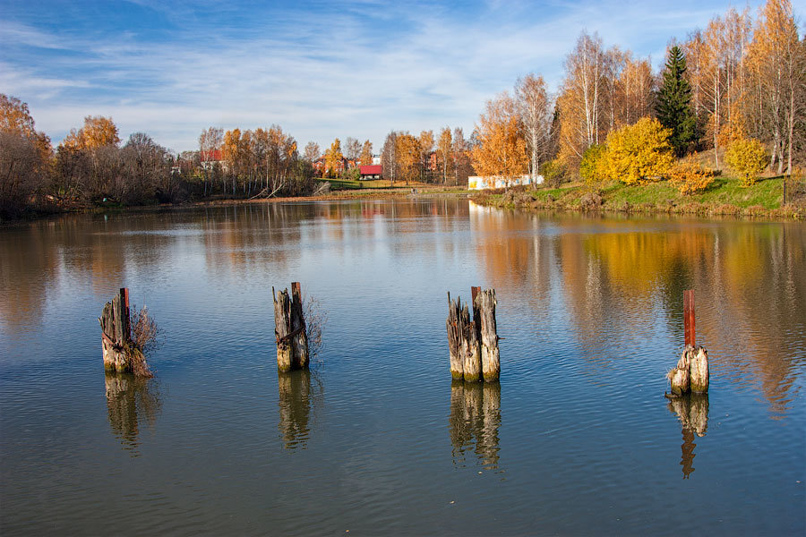
[(450, 385), (450, 444), (454, 462), (464, 461), (467, 447), (476, 439), (476, 456), (488, 469), (498, 467), (501, 427), (501, 384), (463, 382)]

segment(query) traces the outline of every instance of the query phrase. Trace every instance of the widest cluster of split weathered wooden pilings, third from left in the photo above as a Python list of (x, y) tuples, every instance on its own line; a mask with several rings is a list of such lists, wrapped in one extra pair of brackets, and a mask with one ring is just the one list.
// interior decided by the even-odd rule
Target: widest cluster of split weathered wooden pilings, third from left
[(495, 324), (495, 290), (470, 288), (473, 311), (462, 305), (461, 297), (451, 300), (448, 294), (448, 347), (450, 376), (476, 382), (498, 380), (501, 361), (498, 350), (498, 328)]

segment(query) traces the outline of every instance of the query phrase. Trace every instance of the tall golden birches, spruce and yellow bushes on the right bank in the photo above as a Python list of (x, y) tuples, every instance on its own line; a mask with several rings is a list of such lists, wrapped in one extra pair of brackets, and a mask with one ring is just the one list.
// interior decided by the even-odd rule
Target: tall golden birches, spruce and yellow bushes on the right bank
[[(476, 124), (472, 164), (479, 175), (539, 171), (557, 184), (613, 179), (626, 161), (659, 158), (658, 166), (630, 170), (645, 180), (672, 169), (663, 166), (671, 166), (670, 153), (709, 150), (713, 170), (727, 157), (743, 175), (758, 167), (760, 147), (773, 173), (792, 174), (804, 158), (804, 111), (806, 41), (790, 2), (768, 0), (755, 21), (749, 10), (731, 8), (684, 42), (673, 41), (658, 73), (648, 59), (583, 32), (565, 59), (556, 95), (542, 77), (529, 74), (511, 94), (487, 102)], [(689, 172), (702, 174), (690, 168), (673, 175)]]

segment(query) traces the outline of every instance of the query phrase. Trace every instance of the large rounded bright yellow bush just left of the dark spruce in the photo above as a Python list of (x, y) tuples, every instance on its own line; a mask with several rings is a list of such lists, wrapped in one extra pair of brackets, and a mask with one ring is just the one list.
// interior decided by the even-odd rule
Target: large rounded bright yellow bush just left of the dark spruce
[(656, 181), (674, 162), (671, 132), (649, 117), (611, 132), (604, 157), (606, 175), (625, 184)]

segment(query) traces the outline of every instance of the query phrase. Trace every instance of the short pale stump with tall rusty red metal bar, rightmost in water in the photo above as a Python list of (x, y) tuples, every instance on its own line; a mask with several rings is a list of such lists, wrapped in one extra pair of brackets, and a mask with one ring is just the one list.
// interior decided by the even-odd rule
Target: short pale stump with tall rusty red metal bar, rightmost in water
[(708, 391), (708, 352), (696, 343), (694, 329), (694, 291), (683, 292), (683, 326), (685, 349), (677, 362), (677, 367), (669, 371), (669, 382), (673, 397), (689, 392), (705, 394)]

